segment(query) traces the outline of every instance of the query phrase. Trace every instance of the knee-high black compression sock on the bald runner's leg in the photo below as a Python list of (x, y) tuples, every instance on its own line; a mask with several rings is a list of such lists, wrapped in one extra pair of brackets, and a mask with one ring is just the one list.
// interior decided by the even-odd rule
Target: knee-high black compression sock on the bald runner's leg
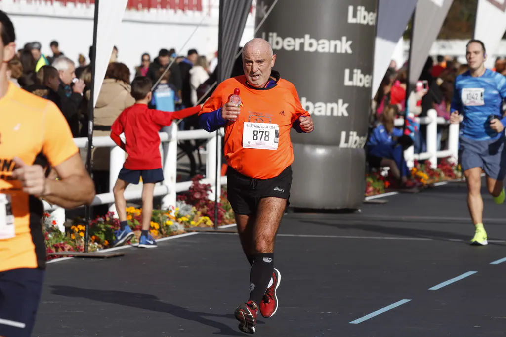
[(249, 301), (254, 301), (259, 307), (273, 270), (274, 253), (257, 254), (249, 272)]

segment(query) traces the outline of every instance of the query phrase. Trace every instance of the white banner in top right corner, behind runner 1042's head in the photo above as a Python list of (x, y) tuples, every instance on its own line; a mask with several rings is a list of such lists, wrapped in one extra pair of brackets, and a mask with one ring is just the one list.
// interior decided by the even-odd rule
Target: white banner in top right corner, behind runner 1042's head
[(506, 1), (505, 0), (478, 0), (478, 12), (474, 38), (482, 40), (487, 50), (485, 66), (493, 68), (495, 54), (502, 35), (506, 30)]

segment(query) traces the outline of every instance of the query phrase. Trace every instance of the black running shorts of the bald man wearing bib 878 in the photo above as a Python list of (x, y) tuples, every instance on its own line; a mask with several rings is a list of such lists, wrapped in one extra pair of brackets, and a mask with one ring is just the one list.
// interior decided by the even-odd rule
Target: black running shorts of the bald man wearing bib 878
[(227, 194), (235, 214), (256, 214), (260, 199), (278, 197), (286, 199), (286, 206), (290, 204), (291, 165), (286, 167), (279, 176), (269, 179), (252, 179), (235, 171), (227, 169)]

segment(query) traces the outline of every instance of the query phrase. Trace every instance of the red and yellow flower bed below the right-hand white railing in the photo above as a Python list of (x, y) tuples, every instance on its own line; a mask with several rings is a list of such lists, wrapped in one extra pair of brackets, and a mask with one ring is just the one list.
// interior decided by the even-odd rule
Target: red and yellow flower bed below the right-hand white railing
[[(431, 185), (440, 181), (459, 179), (462, 177), (460, 164), (456, 165), (442, 158), (435, 168), (431, 167), (429, 160), (423, 163), (414, 161), (411, 168), (411, 176), (422, 183), (424, 186)], [(386, 189), (392, 184), (392, 178), (382, 175), (380, 172), (366, 175), (365, 195), (376, 195), (385, 193)]]

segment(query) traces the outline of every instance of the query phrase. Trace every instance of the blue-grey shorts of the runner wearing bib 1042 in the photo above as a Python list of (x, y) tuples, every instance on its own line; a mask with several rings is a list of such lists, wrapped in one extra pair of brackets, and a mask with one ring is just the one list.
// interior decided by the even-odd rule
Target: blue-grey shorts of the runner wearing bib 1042
[(460, 137), (458, 158), (462, 172), (481, 167), (485, 174), (495, 180), (503, 180), (506, 173), (506, 147), (504, 137), (477, 141)]

